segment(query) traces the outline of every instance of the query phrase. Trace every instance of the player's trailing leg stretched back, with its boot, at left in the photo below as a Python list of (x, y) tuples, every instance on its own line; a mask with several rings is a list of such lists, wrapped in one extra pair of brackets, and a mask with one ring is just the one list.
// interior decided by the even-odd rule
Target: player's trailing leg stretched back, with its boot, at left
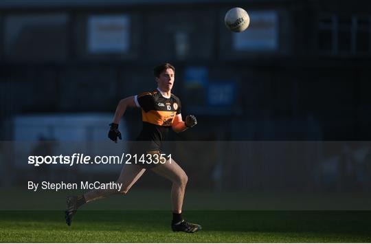
[(101, 189), (91, 190), (82, 196), (71, 196), (67, 197), (67, 210), (65, 211), (65, 219), (67, 225), (71, 225), (72, 217), (76, 214), (76, 211), (80, 206), (89, 201), (103, 199), (115, 194), (126, 194), (130, 190), (131, 186), (143, 175), (146, 171), (145, 168), (137, 166), (135, 164), (126, 164), (120, 173), (120, 177), (116, 183), (122, 184), (122, 190), (119, 192), (114, 189)]

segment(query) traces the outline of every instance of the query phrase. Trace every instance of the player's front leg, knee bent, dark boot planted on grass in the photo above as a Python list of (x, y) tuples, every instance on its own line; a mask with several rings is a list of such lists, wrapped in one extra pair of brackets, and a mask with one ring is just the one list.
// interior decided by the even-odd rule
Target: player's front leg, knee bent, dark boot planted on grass
[(201, 230), (201, 225), (188, 223), (181, 217), (181, 209), (183, 206), (184, 193), (186, 192), (186, 185), (188, 176), (184, 170), (172, 159), (166, 161), (165, 164), (160, 164), (152, 168), (153, 172), (161, 175), (166, 179), (172, 181), (171, 199), (172, 199), (172, 230), (194, 233)]

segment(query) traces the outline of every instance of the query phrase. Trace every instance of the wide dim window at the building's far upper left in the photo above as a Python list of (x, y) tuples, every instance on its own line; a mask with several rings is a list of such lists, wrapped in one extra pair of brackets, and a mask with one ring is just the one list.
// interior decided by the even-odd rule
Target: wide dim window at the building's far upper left
[(5, 16), (5, 56), (14, 60), (64, 60), (68, 56), (67, 14)]

